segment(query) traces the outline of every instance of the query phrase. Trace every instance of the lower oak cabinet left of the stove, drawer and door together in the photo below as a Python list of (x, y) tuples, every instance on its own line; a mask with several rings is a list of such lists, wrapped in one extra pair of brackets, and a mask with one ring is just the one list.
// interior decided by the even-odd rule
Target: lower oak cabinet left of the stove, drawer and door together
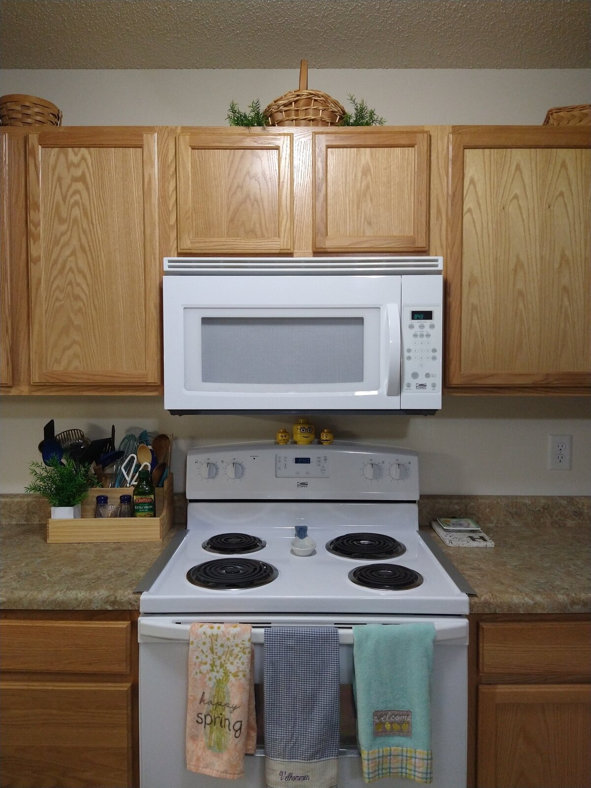
[(2, 788), (132, 788), (136, 614), (2, 614)]

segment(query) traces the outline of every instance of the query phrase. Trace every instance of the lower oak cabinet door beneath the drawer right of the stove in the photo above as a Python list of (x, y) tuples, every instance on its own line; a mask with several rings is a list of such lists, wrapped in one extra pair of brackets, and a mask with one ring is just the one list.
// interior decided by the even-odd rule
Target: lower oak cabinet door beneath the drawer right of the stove
[(591, 686), (478, 688), (478, 788), (587, 788)]

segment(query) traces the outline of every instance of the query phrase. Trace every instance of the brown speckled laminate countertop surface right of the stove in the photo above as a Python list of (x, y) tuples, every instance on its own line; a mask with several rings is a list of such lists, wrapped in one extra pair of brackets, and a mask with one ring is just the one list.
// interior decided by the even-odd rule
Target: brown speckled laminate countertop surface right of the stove
[(448, 547), (426, 530), (477, 592), (471, 613), (591, 611), (589, 526), (483, 527), (493, 548)]

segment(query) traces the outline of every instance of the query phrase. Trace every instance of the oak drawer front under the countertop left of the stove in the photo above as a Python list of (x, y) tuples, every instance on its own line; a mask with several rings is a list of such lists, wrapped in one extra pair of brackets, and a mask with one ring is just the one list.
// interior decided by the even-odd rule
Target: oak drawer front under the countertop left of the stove
[(128, 621), (2, 621), (3, 671), (128, 674), (132, 625)]

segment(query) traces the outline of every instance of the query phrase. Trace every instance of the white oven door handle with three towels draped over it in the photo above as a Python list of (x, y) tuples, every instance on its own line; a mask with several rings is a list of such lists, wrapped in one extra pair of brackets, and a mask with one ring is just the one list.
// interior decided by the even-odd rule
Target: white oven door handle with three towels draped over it
[[(399, 623), (405, 623), (400, 621)], [(420, 623), (417, 620), (409, 623)], [(393, 626), (396, 623), (392, 622)], [(444, 643), (452, 641), (451, 645), (458, 645), (457, 641), (467, 643), (467, 622), (465, 619), (455, 619), (454, 621), (436, 621), (435, 641)], [(267, 625), (269, 626), (269, 625)], [(252, 643), (257, 645), (265, 642), (265, 630), (267, 626), (252, 627)], [(273, 624), (273, 626), (293, 626), (292, 624)], [(320, 626), (318, 624), (314, 626)], [(139, 619), (138, 640), (139, 642), (163, 641), (188, 641), (191, 623), (178, 622), (174, 620)], [(353, 645), (353, 630), (351, 626), (337, 626), (339, 630), (340, 645)], [(453, 642), (455, 641), (455, 643)]]

